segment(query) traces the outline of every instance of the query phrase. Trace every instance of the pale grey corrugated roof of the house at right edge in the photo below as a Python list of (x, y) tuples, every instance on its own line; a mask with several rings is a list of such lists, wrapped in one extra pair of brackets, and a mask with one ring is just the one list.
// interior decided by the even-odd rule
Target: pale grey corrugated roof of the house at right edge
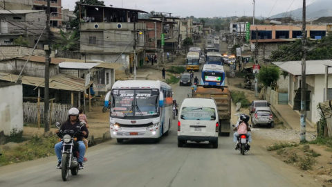
[[(301, 61), (289, 62), (273, 62), (276, 66), (284, 69), (292, 75), (302, 75)], [(322, 75), (325, 74), (325, 65), (332, 66), (331, 60), (307, 60), (306, 61), (306, 75)], [(329, 74), (332, 74), (332, 69), (329, 69)]]

